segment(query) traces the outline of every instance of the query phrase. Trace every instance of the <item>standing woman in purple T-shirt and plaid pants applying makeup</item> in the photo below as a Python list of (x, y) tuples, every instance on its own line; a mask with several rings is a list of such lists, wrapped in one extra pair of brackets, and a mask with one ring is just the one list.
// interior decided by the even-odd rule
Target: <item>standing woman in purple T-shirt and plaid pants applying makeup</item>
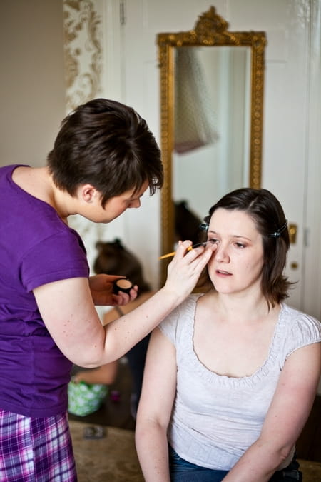
[[(181, 243), (158, 293), (104, 328), (95, 305), (118, 276), (89, 277), (68, 216), (109, 223), (163, 184), (156, 141), (136, 111), (94, 99), (68, 115), (46, 166), (0, 169), (0, 480), (75, 482), (67, 419), (71, 366), (115, 360), (188, 296), (210, 258)], [(157, 306), (157, 310), (155, 307)]]

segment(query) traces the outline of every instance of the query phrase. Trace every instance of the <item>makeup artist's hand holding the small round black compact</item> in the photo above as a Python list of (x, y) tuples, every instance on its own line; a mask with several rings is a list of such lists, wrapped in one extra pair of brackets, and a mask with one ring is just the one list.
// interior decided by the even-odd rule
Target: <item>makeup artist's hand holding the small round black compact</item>
[(123, 276), (96, 274), (89, 278), (89, 288), (96, 306), (121, 306), (136, 298), (138, 286), (133, 286), (129, 294), (123, 291), (119, 291), (118, 294), (113, 293), (113, 283), (119, 278)]

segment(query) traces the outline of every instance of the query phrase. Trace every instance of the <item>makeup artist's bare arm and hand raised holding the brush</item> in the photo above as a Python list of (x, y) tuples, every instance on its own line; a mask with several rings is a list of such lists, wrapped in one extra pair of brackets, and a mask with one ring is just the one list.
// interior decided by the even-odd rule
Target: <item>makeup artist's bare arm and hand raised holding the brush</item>
[(71, 278), (34, 290), (41, 317), (57, 346), (78, 366), (94, 368), (123, 356), (193, 290), (213, 248), (181, 243), (168, 266), (165, 286), (136, 310), (103, 327), (86, 278)]

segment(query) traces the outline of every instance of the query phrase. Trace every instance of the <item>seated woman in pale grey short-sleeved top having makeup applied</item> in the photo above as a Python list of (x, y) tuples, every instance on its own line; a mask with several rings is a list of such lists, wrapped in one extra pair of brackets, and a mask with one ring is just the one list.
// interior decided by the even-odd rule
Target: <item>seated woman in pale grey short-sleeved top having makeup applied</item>
[(265, 189), (205, 219), (210, 289), (151, 335), (136, 421), (146, 482), (302, 480), (295, 460), (320, 379), (321, 325), (284, 303), (290, 246)]

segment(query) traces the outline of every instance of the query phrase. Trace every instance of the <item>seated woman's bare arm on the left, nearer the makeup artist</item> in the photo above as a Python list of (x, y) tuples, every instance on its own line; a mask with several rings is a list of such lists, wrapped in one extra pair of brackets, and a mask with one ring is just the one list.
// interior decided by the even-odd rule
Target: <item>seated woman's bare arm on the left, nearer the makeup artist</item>
[(146, 482), (170, 482), (167, 427), (176, 393), (175, 348), (156, 328), (148, 346), (136, 419), (136, 449)]

